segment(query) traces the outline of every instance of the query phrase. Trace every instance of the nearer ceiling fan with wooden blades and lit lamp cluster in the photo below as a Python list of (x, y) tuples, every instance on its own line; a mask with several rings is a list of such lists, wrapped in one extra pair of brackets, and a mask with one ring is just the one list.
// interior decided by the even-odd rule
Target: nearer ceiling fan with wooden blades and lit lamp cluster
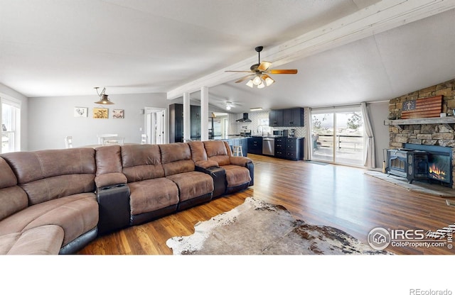
[(225, 72), (246, 72), (250, 73), (247, 74), (247, 76), (242, 77), (241, 79), (235, 81), (235, 83), (240, 83), (245, 81), (246, 79), (250, 79), (250, 81), (247, 82), (248, 87), (257, 87), (257, 88), (264, 88), (265, 86), (272, 85), (275, 80), (272, 79), (272, 77), (269, 76), (269, 74), (297, 74), (296, 69), (270, 69), (270, 66), (272, 65), (272, 62), (266, 62), (262, 61), (261, 62), (261, 51), (264, 49), (263, 46), (257, 46), (255, 50), (257, 51), (258, 54), (258, 63), (255, 65), (252, 65), (250, 67), (250, 71), (225, 71)]

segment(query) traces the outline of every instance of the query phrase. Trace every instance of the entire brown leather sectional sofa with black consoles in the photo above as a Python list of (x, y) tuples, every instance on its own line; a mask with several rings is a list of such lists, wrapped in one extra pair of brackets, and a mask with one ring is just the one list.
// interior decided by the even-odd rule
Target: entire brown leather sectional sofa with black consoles
[(111, 145), (0, 155), (0, 254), (70, 254), (98, 235), (250, 187), (228, 143)]

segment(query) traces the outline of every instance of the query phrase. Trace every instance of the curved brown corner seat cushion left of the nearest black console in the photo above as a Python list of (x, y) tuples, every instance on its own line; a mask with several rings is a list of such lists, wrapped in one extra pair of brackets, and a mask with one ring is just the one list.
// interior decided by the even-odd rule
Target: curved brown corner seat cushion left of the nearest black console
[(98, 203), (94, 193), (82, 193), (45, 201), (0, 221), (0, 235), (22, 233), (31, 228), (55, 225), (63, 228), (63, 246), (92, 230), (98, 223)]

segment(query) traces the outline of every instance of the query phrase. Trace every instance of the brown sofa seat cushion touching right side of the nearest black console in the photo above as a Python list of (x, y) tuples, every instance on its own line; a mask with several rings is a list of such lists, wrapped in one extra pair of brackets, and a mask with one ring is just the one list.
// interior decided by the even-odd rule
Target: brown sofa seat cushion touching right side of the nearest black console
[(178, 187), (165, 177), (130, 182), (129, 206), (131, 214), (152, 212), (178, 204)]

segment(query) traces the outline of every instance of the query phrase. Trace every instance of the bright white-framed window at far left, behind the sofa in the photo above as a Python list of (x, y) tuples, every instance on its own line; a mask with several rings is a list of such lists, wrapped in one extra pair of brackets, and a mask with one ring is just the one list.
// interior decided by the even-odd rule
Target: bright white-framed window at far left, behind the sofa
[(0, 153), (21, 150), (21, 104), (13, 99), (0, 97), (1, 147)]

